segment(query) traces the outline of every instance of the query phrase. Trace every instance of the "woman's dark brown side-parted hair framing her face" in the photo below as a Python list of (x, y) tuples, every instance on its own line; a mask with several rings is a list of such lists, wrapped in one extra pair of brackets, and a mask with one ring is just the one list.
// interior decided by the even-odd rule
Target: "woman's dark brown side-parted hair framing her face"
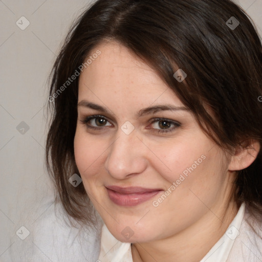
[[(233, 23), (232, 16), (240, 23), (236, 28), (226, 23)], [(105, 39), (146, 61), (223, 149), (237, 148), (246, 139), (261, 145), (262, 48), (244, 10), (229, 0), (98, 0), (72, 26), (50, 76), (46, 163), (57, 199), (71, 217), (92, 223), (94, 208), (83, 184), (73, 187), (68, 181), (79, 174), (74, 158), (79, 77), (62, 92), (61, 86), (80, 73), (79, 66)], [(174, 64), (186, 72), (186, 81), (173, 77)], [(235, 201), (262, 215), (261, 188), (260, 150), (236, 174)]]

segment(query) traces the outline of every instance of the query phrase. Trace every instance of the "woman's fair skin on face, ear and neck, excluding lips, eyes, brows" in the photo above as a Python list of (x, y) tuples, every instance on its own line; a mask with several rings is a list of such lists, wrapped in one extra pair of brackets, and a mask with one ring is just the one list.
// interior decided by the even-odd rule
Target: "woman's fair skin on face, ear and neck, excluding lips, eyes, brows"
[[(78, 106), (74, 148), (85, 190), (111, 233), (133, 243), (134, 261), (199, 261), (238, 211), (230, 197), (234, 170), (250, 165), (255, 156), (245, 151), (225, 156), (188, 111), (137, 116), (149, 106), (184, 105), (149, 65), (119, 43), (102, 42), (97, 49), (101, 55), (80, 75), (78, 102), (87, 100), (108, 112)], [(95, 119), (81, 122), (93, 115), (107, 121), (100, 126)], [(159, 133), (163, 122), (152, 122), (155, 118), (180, 126), (171, 124), (170, 132)], [(135, 127), (129, 135), (121, 130), (126, 121)], [(152, 201), (160, 195), (134, 207), (108, 198), (108, 185), (167, 190), (202, 155), (205, 160), (158, 207)], [(134, 231), (129, 239), (121, 233), (127, 226)]]

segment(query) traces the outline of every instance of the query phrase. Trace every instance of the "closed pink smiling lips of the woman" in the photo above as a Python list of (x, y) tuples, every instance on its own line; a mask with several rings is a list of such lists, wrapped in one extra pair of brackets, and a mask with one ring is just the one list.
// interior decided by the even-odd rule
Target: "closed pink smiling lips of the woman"
[(136, 206), (143, 203), (162, 189), (149, 189), (142, 187), (119, 187), (119, 186), (106, 186), (108, 197), (112, 202), (119, 206)]

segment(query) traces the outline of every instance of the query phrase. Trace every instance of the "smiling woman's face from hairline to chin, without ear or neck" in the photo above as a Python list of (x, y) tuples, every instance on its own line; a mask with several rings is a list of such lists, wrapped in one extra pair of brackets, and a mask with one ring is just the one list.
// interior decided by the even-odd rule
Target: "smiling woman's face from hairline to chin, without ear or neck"
[(97, 50), (79, 79), (74, 147), (107, 228), (121, 242), (148, 242), (215, 213), (233, 181), (221, 149), (142, 60), (115, 42)]

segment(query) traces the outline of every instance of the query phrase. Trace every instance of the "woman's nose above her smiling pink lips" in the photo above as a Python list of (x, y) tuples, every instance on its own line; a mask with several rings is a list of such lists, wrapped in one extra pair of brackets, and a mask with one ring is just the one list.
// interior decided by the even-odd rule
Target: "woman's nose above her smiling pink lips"
[(105, 169), (115, 179), (123, 180), (142, 173), (147, 167), (146, 148), (135, 130), (126, 135), (121, 129), (108, 148)]

